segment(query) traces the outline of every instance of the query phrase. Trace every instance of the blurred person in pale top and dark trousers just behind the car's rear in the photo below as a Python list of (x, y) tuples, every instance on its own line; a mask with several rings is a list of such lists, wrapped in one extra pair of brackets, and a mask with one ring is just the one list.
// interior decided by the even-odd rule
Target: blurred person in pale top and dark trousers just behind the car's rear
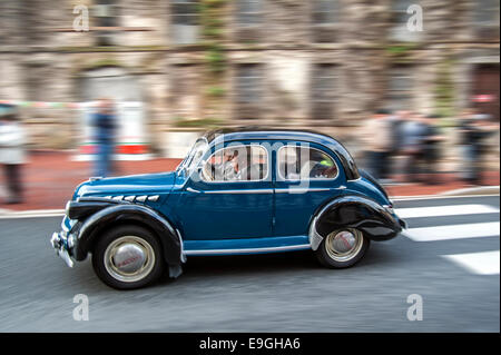
[(365, 145), (365, 164), (367, 170), (381, 179), (387, 169), (390, 150), (392, 147), (392, 131), (389, 111), (380, 109), (365, 122), (362, 139)]

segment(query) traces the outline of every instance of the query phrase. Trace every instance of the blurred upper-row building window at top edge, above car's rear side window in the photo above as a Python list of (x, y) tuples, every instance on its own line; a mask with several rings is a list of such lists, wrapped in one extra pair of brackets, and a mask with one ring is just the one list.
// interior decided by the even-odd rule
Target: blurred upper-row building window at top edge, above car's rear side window
[(314, 0), (312, 8), (313, 41), (317, 43), (335, 40), (338, 0)]

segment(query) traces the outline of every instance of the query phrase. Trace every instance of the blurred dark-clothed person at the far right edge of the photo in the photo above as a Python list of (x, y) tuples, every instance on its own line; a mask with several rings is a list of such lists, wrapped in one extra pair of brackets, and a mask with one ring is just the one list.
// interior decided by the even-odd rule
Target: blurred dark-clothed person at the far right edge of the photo
[(482, 184), (482, 161), (489, 149), (487, 139), (499, 129), (499, 124), (490, 122), (488, 118), (477, 114), (475, 109), (465, 109), (460, 116), (461, 178), (471, 185)]

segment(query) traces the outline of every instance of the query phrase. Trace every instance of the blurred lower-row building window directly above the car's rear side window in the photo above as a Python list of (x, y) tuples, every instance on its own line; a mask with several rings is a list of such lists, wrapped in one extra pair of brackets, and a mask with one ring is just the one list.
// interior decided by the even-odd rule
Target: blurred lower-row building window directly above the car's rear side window
[(335, 83), (337, 81), (334, 65), (315, 65), (312, 72), (312, 118), (332, 119), (335, 108)]

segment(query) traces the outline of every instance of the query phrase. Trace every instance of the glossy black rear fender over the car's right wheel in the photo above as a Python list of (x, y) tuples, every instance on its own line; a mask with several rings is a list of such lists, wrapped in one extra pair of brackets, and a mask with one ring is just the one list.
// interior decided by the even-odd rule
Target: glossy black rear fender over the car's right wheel
[(312, 249), (316, 250), (323, 238), (343, 227), (360, 229), (372, 240), (387, 240), (402, 231), (401, 221), (380, 204), (361, 196), (343, 196), (315, 214), (310, 226)]

